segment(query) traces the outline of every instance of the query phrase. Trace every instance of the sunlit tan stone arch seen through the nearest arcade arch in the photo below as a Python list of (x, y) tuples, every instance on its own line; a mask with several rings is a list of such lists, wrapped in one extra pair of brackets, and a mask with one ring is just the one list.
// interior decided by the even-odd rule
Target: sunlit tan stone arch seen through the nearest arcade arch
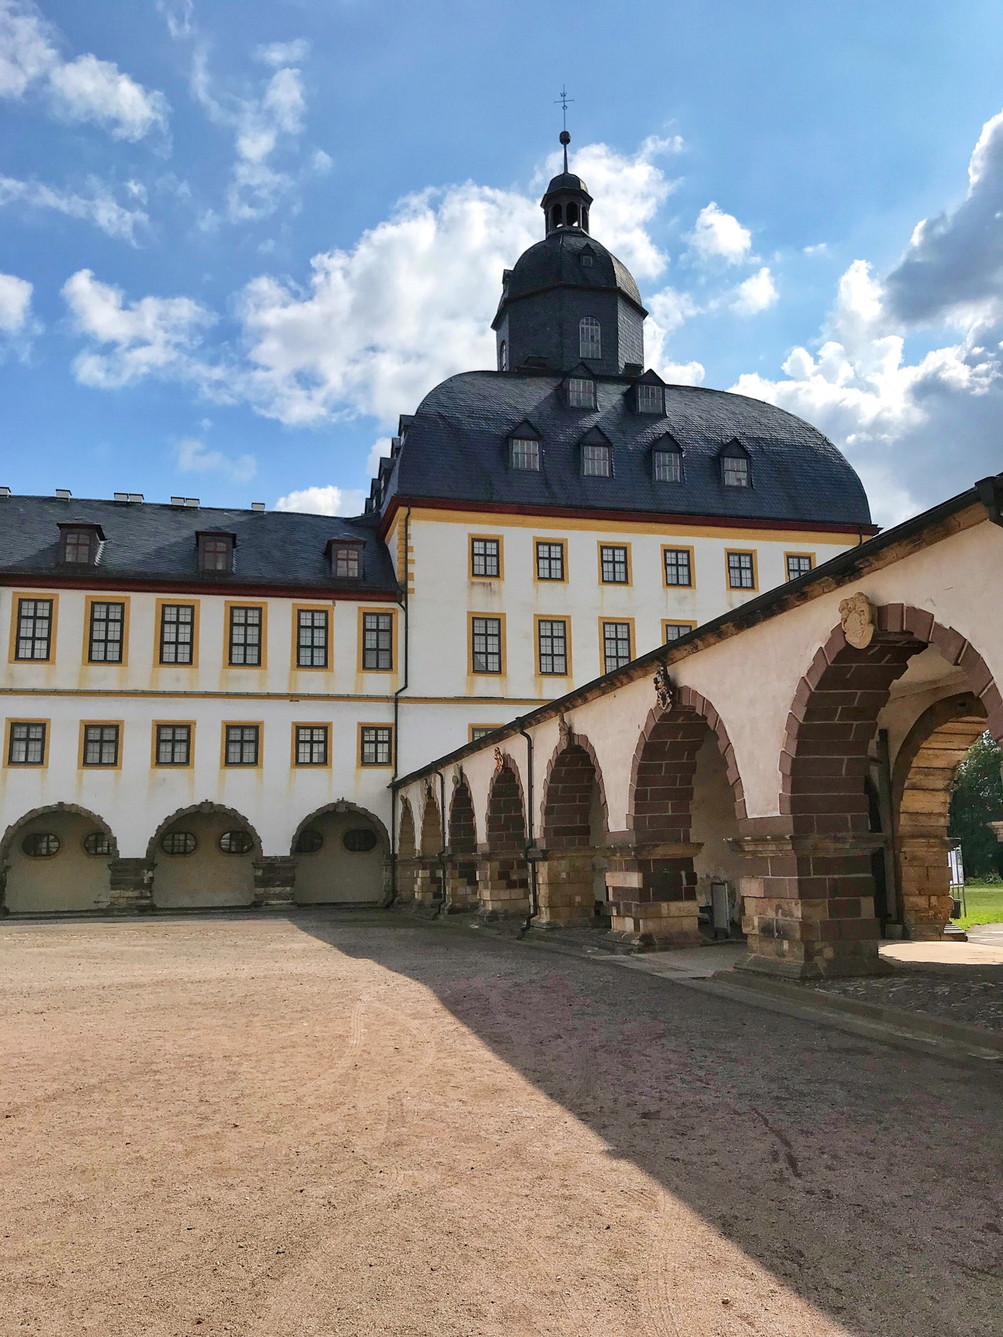
[(939, 939), (951, 919), (951, 783), (984, 730), (986, 707), (978, 697), (971, 691), (945, 697), (923, 711), (895, 758), (896, 880), (912, 939)]

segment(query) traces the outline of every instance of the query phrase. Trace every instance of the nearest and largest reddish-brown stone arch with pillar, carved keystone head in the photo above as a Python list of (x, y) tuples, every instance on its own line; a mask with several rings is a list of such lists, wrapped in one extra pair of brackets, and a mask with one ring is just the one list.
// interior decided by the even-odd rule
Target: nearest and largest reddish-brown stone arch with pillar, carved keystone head
[[(863, 648), (847, 640), (843, 626), (834, 627), (794, 691), (780, 754), (780, 812), (790, 845), (785, 857), (761, 865), (769, 905), (753, 906), (750, 915), (753, 956), (766, 968), (780, 963), (781, 971), (801, 976), (877, 968), (872, 853), (885, 837), (871, 832), (864, 782), (879, 714), (913, 655), (935, 646), (960, 668), (978, 702), (972, 709), (984, 710), (986, 725), (1003, 737), (1003, 698), (964, 636), (908, 604), (875, 608), (873, 627)], [(927, 909), (933, 912), (929, 897)], [(944, 923), (941, 917), (935, 935), (928, 921), (917, 923), (916, 932), (940, 936)]]

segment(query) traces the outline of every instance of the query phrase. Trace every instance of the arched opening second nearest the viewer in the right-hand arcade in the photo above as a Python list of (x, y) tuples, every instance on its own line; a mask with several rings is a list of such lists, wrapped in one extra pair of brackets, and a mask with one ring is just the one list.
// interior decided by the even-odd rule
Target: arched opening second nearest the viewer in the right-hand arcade
[[(745, 872), (732, 844), (745, 820), (745, 793), (725, 722), (706, 697), (679, 687), (669, 709), (649, 713), (634, 750), (627, 828), (638, 846), (675, 845), (645, 864), (654, 900), (694, 898), (710, 905), (714, 884), (728, 888), (728, 917), (738, 932)], [(698, 846), (698, 848), (697, 848)]]

